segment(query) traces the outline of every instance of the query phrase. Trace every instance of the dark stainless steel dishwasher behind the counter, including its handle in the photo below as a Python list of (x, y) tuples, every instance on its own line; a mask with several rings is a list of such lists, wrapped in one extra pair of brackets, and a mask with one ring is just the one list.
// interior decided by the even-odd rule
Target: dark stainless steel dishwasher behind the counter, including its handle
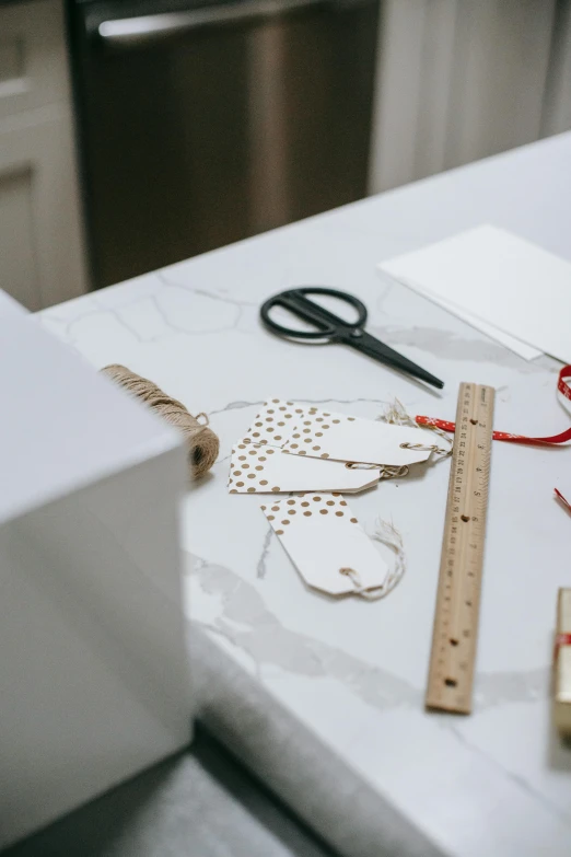
[(93, 285), (365, 195), (377, 0), (72, 0)]

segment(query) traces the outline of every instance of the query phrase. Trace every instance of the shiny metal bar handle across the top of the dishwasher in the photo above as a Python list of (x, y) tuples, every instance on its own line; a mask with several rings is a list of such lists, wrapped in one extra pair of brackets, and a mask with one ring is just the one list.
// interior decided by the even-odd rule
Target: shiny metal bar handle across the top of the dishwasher
[(210, 26), (276, 18), (315, 7), (337, 7), (337, 0), (243, 0), (141, 18), (103, 21), (97, 35), (109, 47), (130, 47)]

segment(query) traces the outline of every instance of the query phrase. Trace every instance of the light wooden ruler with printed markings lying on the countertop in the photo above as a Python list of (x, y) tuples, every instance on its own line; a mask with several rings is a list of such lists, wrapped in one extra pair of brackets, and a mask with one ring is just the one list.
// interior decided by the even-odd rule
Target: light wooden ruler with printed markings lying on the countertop
[(461, 384), (426, 704), (469, 714), (478, 639), (494, 391)]

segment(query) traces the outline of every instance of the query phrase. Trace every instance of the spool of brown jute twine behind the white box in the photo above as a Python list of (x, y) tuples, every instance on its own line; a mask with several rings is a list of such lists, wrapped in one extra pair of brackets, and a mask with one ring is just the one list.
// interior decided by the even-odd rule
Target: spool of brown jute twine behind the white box
[(113, 363), (101, 371), (183, 432), (188, 448), (189, 472), (195, 479), (208, 473), (218, 458), (220, 441), (209, 428), (206, 414), (194, 417), (182, 402), (171, 398), (148, 378), (141, 378), (125, 366)]

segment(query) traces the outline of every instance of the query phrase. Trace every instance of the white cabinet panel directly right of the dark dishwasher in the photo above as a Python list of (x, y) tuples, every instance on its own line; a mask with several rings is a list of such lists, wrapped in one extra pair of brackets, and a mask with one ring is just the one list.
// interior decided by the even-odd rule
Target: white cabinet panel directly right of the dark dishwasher
[(371, 190), (537, 140), (556, 0), (384, 0)]

